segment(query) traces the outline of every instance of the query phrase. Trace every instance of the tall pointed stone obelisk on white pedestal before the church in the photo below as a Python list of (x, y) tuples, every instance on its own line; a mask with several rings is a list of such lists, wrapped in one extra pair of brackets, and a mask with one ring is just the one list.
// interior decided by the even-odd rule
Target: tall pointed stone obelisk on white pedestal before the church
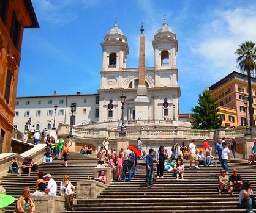
[(143, 34), (143, 26), (141, 26), (140, 34), (140, 59), (138, 67), (138, 88), (137, 97), (135, 98), (135, 119), (148, 120), (149, 99), (145, 85), (145, 36)]

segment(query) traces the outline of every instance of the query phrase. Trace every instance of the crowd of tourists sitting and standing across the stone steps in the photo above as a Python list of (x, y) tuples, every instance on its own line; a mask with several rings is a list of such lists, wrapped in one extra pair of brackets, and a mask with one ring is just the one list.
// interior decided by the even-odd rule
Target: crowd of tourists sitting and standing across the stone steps
[[(46, 143), (48, 141), (49, 140), (46, 139)], [(58, 156), (58, 158), (62, 156), (64, 157), (64, 165), (67, 166), (67, 157), (69, 155), (69, 147), (72, 146), (72, 141), (69, 140), (69, 143), (64, 143), (64, 146), (62, 146), (60, 151), (58, 149), (56, 150), (56, 146), (53, 146), (52, 143), (56, 144), (55, 141), (50, 140), (50, 145), (47, 146), (47, 151), (43, 157), (43, 162), (51, 163), (56, 156)], [(167, 171), (173, 172), (173, 176), (175, 176), (176, 180), (179, 178), (184, 180), (184, 159), (189, 160), (189, 169), (192, 169), (192, 165), (194, 164), (197, 170), (200, 169), (201, 165), (207, 167), (213, 165), (213, 161), (215, 161), (213, 155), (211, 155), (211, 146), (209, 146), (209, 143), (206, 139), (203, 141), (203, 150), (197, 149), (195, 140), (192, 140), (188, 146), (186, 146), (184, 143), (182, 143), (181, 146), (178, 146), (178, 143), (175, 143), (171, 148), (171, 155), (169, 155), (168, 150), (165, 149), (165, 147), (162, 145), (160, 145), (159, 149), (156, 151), (150, 148), (148, 154), (146, 154), (146, 151), (142, 150), (143, 143), (140, 138), (138, 138), (137, 147), (129, 146), (126, 150), (121, 148), (119, 152), (116, 151), (116, 149), (113, 147), (109, 150), (109, 145), (110, 142), (108, 138), (106, 138), (102, 142), (100, 150), (97, 152), (97, 167), (100, 167), (100, 165), (104, 167), (107, 163), (108, 167), (112, 168), (113, 173), (115, 173), (116, 179), (118, 181), (131, 182), (132, 177), (136, 177), (138, 168), (137, 159), (141, 157), (145, 159), (146, 162), (145, 187), (148, 189), (155, 187), (155, 169), (157, 173), (156, 178), (164, 178), (164, 171)], [(234, 192), (239, 192), (239, 203), (241, 206), (246, 208), (247, 212), (252, 213), (253, 208), (255, 208), (255, 198), (251, 187), (252, 184), (249, 181), (244, 181), (238, 174), (238, 170), (234, 169), (232, 171), (232, 175), (230, 175), (228, 171), (230, 150), (232, 151), (233, 157), (236, 158), (235, 138), (232, 138), (232, 142), (229, 143), (225, 142), (225, 138), (219, 139), (215, 148), (216, 154), (219, 156), (219, 163), (223, 168), (219, 176), (219, 195), (221, 195), (223, 192), (227, 192), (230, 195), (233, 195)], [(140, 153), (139, 155), (138, 152)], [(61, 153), (60, 156), (59, 153)], [(249, 156), (249, 163), (255, 161), (254, 157), (256, 154), (254, 153), (256, 153), (256, 142), (254, 142), (254, 146), (252, 147), (252, 154)], [(91, 146), (82, 146), (80, 154), (91, 155)], [(154, 168), (154, 159), (156, 161), (156, 168)], [(9, 168), (10, 173), (18, 173), (18, 176), (20, 176), (21, 173), (28, 173), (28, 176), (30, 176), (32, 169), (34, 169), (34, 171), (38, 171), (38, 166), (33, 163), (32, 159), (28, 158), (25, 158), (22, 165), (20, 165), (20, 163), (17, 161), (17, 157), (13, 157)], [(100, 170), (97, 178), (94, 178), (94, 180), (105, 184), (107, 182), (105, 171)], [(56, 195), (56, 191), (57, 184), (53, 178), (51, 178), (51, 175), (43, 175), (43, 173), (39, 171), (34, 193), (31, 194)], [(28, 196), (28, 194), (30, 197), (30, 189), (26, 187), (22, 196), (23, 200), (25, 196)], [(72, 211), (75, 187), (71, 184), (69, 176), (67, 175), (63, 177), (63, 181), (60, 183), (60, 194), (65, 197), (66, 209)], [(20, 199), (17, 201), (17, 209), (21, 209), (21, 207), (24, 206), (23, 203), (21, 203), (23, 200)], [(34, 208), (34, 203), (31, 202), (32, 200), (27, 199), (27, 201), (29, 202), (29, 208)]]

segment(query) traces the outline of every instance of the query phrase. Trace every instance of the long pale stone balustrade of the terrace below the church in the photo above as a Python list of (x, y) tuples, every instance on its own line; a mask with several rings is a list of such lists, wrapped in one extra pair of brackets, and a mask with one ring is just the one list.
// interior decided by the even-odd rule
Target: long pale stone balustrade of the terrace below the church
[[(141, 120), (143, 121), (143, 120)], [(58, 126), (58, 135), (68, 135), (70, 126), (68, 125), (59, 125)], [(104, 139), (108, 137), (111, 140), (115, 140), (116, 137), (119, 137), (119, 128), (82, 128), (73, 126), (73, 135), (77, 138), (88, 138), (88, 139)], [(148, 139), (208, 139), (208, 140), (217, 140), (218, 138), (227, 137), (227, 138), (242, 138), (246, 133), (245, 128), (239, 129), (216, 129), (214, 130), (200, 130), (200, 129), (181, 129), (177, 126), (166, 126), (166, 125), (157, 125), (154, 128), (143, 128), (140, 126), (127, 127), (126, 135), (129, 139), (137, 139), (138, 137), (148, 138)]]

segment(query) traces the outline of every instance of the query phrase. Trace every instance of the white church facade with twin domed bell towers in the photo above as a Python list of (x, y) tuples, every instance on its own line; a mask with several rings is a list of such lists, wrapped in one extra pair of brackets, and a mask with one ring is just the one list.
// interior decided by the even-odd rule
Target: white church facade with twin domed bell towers
[[(139, 68), (127, 68), (129, 46), (126, 35), (119, 29), (118, 24), (105, 35), (102, 42), (102, 70), (101, 84), (98, 90), (100, 96), (99, 121), (118, 120), (121, 117), (120, 96), (126, 96), (124, 103), (125, 120), (178, 120), (179, 97), (178, 69), (176, 66), (176, 52), (178, 42), (166, 21), (154, 35), (154, 67), (145, 68), (147, 107), (141, 108), (137, 104), (138, 86), (140, 82)], [(141, 46), (141, 44), (140, 44)], [(145, 51), (140, 51), (140, 58)], [(141, 64), (140, 64), (141, 66)], [(142, 65), (143, 66), (143, 65)], [(165, 103), (165, 104), (164, 104)], [(110, 104), (111, 107), (108, 107)], [(138, 105), (138, 106), (137, 106)], [(146, 117), (145, 117), (146, 115)]]

